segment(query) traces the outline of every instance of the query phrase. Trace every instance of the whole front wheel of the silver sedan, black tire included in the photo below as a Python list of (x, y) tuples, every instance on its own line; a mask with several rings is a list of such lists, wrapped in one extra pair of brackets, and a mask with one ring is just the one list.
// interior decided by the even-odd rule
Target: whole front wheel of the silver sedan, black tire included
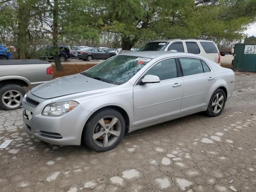
[[(114, 126), (110, 125), (111, 127), (108, 128), (111, 122), (113, 122)], [(124, 117), (120, 112), (111, 108), (104, 109), (94, 114), (86, 122), (82, 139), (84, 144), (94, 151), (108, 151), (120, 143), (125, 133), (125, 127)]]

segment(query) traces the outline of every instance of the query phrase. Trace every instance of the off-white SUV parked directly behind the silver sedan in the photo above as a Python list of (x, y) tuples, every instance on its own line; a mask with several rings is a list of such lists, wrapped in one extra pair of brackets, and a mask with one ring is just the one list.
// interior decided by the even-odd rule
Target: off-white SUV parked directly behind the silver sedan
[(170, 39), (148, 42), (138, 51), (177, 51), (203, 56), (220, 65), (220, 52), (213, 41), (201, 39)]

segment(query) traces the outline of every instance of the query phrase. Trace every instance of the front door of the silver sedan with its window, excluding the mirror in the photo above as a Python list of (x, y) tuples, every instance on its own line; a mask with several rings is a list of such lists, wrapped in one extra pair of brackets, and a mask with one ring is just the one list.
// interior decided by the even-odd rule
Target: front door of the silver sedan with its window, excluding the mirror
[(156, 75), (159, 83), (134, 86), (134, 126), (180, 114), (183, 82), (174, 58), (162, 60), (145, 75)]

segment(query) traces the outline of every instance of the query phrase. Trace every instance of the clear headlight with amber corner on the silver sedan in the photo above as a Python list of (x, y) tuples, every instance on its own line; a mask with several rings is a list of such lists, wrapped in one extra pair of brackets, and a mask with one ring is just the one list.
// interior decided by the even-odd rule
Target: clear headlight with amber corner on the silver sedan
[(78, 106), (78, 103), (75, 101), (64, 101), (64, 102), (58, 102), (58, 103), (51, 103), (46, 105), (44, 108), (42, 115), (47, 116), (62, 116), (71, 110), (73, 110), (76, 106)]

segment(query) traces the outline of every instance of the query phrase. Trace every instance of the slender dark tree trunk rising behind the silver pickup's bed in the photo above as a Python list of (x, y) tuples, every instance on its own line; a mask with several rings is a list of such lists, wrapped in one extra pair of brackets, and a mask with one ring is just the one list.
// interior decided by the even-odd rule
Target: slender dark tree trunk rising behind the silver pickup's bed
[(54, 0), (54, 5), (52, 9), (53, 15), (53, 26), (52, 26), (52, 49), (54, 53), (54, 63), (57, 71), (63, 71), (62, 64), (59, 59), (59, 48), (58, 48), (58, 11), (59, 3), (58, 0)]

